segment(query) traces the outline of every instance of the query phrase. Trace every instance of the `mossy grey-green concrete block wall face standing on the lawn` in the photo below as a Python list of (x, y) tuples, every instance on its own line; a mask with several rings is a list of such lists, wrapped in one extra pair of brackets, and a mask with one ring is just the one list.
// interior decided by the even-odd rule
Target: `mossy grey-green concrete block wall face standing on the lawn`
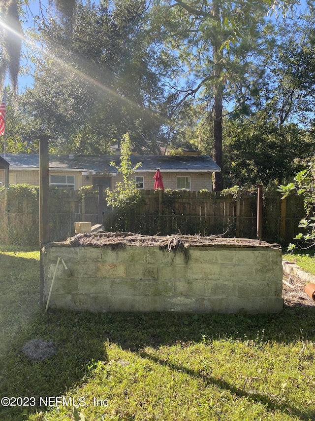
[(43, 250), (50, 307), (92, 311), (269, 313), (283, 308), (282, 253), (274, 247), (72, 247)]

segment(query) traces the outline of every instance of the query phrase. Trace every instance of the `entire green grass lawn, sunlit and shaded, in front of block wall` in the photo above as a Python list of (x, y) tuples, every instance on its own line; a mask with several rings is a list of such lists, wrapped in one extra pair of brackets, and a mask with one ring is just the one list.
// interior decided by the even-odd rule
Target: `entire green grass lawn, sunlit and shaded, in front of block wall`
[[(38, 251), (4, 247), (0, 285), (0, 398), (36, 403), (0, 406), (1, 420), (315, 420), (314, 307), (45, 313)], [(56, 344), (45, 361), (22, 352), (39, 338)], [(58, 407), (38, 406), (61, 396)]]

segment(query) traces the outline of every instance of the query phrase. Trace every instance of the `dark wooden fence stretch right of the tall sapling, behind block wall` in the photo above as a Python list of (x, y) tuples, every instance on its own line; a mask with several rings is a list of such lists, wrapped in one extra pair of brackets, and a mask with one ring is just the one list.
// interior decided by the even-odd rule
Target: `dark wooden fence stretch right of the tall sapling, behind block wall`
[[(142, 191), (142, 199), (125, 215), (105, 206), (105, 229), (147, 235), (182, 232), (256, 238), (256, 194), (159, 190)], [(262, 215), (262, 239), (288, 243), (298, 232), (298, 224), (304, 217), (303, 199), (292, 195), (281, 200), (279, 192), (265, 192)]]

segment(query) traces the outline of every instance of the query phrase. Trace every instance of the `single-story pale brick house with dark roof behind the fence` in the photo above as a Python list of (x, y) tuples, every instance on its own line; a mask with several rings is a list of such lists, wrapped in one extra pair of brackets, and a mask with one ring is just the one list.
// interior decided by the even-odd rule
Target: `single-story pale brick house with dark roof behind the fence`
[[(10, 164), (9, 184), (39, 185), (38, 154), (7, 153)], [(165, 189), (211, 190), (211, 175), (221, 168), (209, 155), (131, 155), (132, 165), (141, 162), (134, 177), (139, 189), (154, 187), (154, 174), (159, 168)], [(110, 163), (115, 162), (112, 166)], [(118, 172), (119, 155), (49, 155), (49, 182), (51, 186), (78, 190), (83, 186), (115, 188), (122, 181)], [(4, 181), (4, 170), (0, 169), (0, 181)]]

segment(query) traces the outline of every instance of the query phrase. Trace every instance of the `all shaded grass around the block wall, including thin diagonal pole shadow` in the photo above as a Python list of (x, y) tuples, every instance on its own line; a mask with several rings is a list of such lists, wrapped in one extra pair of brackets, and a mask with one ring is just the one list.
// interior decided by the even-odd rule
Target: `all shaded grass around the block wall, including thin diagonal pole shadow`
[[(107, 361), (106, 342), (151, 358), (141, 349), (158, 348), (178, 341), (201, 342), (213, 339), (249, 340), (264, 331), (264, 341), (291, 343), (315, 341), (315, 307), (284, 307), (280, 314), (176, 314), (176, 313), (90, 313), (49, 310), (39, 306), (39, 262), (35, 259), (0, 255), (0, 397), (36, 398), (61, 396), (82, 384), (87, 365), (94, 360)], [(45, 361), (33, 361), (23, 352), (31, 339), (56, 344), (57, 353)], [(174, 370), (185, 370), (208, 384), (218, 384), (237, 396), (266, 402), (270, 408), (298, 414), (268, 396), (247, 394), (232, 384), (169, 361), (155, 361)], [(33, 408), (2, 408), (1, 419), (21, 420)], [(36, 408), (37, 409), (37, 408)], [(45, 410), (45, 408), (41, 408)]]

